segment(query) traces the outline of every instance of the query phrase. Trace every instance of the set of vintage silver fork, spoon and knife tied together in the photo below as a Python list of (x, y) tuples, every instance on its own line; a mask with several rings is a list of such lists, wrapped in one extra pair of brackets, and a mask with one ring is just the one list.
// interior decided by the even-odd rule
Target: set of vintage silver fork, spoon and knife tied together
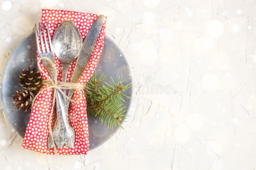
[[(77, 83), (79, 77), (81, 76), (81, 74), (83, 74), (84, 69), (90, 59), (92, 50), (100, 34), (104, 19), (105, 17), (103, 15), (100, 15), (94, 21), (91, 28), (87, 32), (84, 42), (82, 42), (83, 40), (81, 34), (76, 25), (69, 20), (63, 21), (57, 27), (56, 31), (53, 34), (52, 41), (50, 39), (48, 21), (46, 21), (46, 29), (44, 27), (44, 22), (42, 23), (43, 31), (41, 31), (40, 22), (38, 29), (35, 24), (36, 45), (39, 57), (47, 57), (54, 63), (56, 54), (62, 64), (63, 82), (67, 82), (69, 65), (78, 57), (75, 70), (70, 81), (72, 83)], [(46, 34), (48, 37), (48, 41), (46, 39)], [(39, 44), (39, 41), (41, 43), (41, 46)], [(47, 44), (49, 44), (49, 47)], [(54, 72), (54, 68), (52, 67), (50, 62), (44, 59), (42, 59), (41, 62), (48, 70), (51, 78), (54, 80), (56, 78), (56, 75)], [(66, 94), (70, 99), (74, 95), (73, 89), (62, 89), (62, 92)], [(57, 119), (53, 128), (54, 141), (52, 141), (51, 136), (48, 136), (47, 146), (49, 149), (52, 149), (55, 143), (58, 148), (62, 148), (64, 145), (72, 148), (75, 143), (75, 131), (68, 122), (68, 107), (70, 100), (64, 97), (58, 89), (55, 90), (55, 95)]]

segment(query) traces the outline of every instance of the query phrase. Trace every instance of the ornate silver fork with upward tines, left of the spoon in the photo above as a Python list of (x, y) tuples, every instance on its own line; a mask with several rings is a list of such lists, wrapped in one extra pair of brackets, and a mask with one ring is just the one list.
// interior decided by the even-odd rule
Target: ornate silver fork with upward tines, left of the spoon
[[(38, 31), (40, 34), (39, 39), (38, 39)], [(36, 28), (36, 23), (35, 23), (36, 45), (37, 45), (38, 55), (39, 57), (47, 57), (54, 63), (55, 55), (52, 48), (52, 41), (50, 38), (48, 21), (46, 21), (46, 31), (47, 31), (47, 37), (48, 37), (48, 43), (49, 43), (50, 49), (48, 48), (47, 39), (44, 31), (45, 29), (44, 29), (44, 22), (43, 22), (43, 36), (44, 36), (44, 41), (43, 41), (40, 22), (39, 22), (39, 29)], [(41, 46), (39, 44), (39, 40), (41, 42)], [(44, 44), (45, 44), (45, 48), (44, 48)], [(51, 78), (55, 80), (56, 75), (54, 72), (54, 68), (52, 67), (50, 62), (44, 59), (42, 59), (41, 61), (44, 67), (48, 70)], [(75, 131), (70, 126), (70, 124), (67, 123), (68, 121), (62, 120), (61, 118), (61, 113), (68, 112), (68, 107), (65, 106), (64, 100), (61, 97), (60, 91), (58, 89), (55, 90), (55, 95), (56, 95), (57, 119), (54, 125), (54, 131), (53, 131), (54, 141), (52, 141), (52, 138), (48, 138), (47, 146), (49, 149), (52, 149), (53, 142), (55, 142), (58, 148), (61, 148), (64, 144), (66, 144), (68, 147), (71, 148), (74, 146), (74, 142), (75, 142)], [(68, 117), (65, 117), (65, 119), (68, 119)]]

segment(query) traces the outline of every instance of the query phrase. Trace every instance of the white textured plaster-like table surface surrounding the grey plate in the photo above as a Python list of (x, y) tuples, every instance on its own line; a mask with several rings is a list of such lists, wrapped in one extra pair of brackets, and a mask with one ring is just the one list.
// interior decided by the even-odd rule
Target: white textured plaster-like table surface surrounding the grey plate
[[(0, 113), (0, 169), (255, 170), (255, 0), (0, 1), (0, 74), (41, 8), (108, 16), (134, 94), (130, 117), (87, 155), (24, 150)], [(1, 106), (2, 108), (2, 106)]]

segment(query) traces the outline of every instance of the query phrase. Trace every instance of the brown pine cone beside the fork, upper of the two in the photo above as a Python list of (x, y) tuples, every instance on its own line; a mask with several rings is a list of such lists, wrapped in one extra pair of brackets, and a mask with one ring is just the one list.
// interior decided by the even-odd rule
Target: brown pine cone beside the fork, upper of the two
[(23, 89), (27, 89), (29, 91), (36, 91), (41, 86), (41, 75), (36, 68), (31, 69), (31, 66), (28, 66), (28, 70), (22, 69), (22, 74), (18, 76), (20, 79), (20, 86)]

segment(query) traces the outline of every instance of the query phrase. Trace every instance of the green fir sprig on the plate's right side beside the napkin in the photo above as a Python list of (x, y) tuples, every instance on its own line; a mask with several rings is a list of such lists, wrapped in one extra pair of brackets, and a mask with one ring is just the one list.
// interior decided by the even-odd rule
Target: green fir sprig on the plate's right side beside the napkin
[(100, 74), (98, 79), (96, 77), (96, 73), (92, 75), (85, 88), (88, 117), (91, 120), (99, 117), (100, 123), (108, 124), (110, 129), (113, 129), (114, 125), (123, 128), (120, 122), (125, 121), (127, 117), (124, 115), (127, 110), (123, 97), (128, 97), (124, 91), (132, 87), (131, 83), (123, 85), (125, 80), (123, 76), (118, 77), (117, 83), (110, 77), (113, 85), (104, 81), (106, 78), (104, 74)]

